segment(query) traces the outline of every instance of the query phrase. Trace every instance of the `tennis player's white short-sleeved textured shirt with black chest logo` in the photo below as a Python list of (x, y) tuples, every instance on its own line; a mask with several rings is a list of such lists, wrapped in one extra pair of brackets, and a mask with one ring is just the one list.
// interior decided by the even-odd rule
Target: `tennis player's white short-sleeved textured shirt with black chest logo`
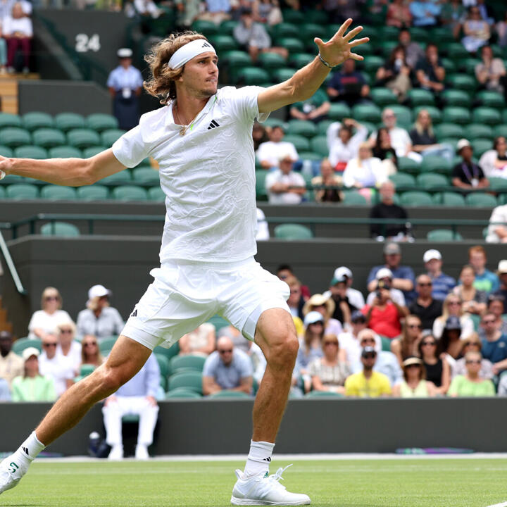
[(152, 156), (160, 165), (165, 261), (236, 262), (255, 255), (256, 189), (252, 126), (262, 87), (225, 87), (211, 96), (184, 136), (173, 106), (142, 115), (113, 144), (129, 168)]

